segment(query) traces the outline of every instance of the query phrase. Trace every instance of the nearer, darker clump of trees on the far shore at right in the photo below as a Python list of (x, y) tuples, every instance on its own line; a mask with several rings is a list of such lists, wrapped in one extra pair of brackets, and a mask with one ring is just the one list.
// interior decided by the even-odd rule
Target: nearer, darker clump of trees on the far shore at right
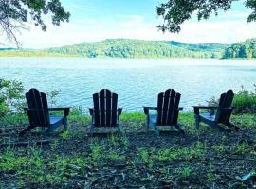
[(223, 58), (256, 58), (256, 39), (248, 39), (243, 43), (232, 44), (226, 48)]

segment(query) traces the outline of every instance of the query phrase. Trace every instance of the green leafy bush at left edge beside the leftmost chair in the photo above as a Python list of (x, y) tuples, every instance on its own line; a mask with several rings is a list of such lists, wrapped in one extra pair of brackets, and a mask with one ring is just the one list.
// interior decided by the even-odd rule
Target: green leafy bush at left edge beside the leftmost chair
[(23, 92), (21, 82), (0, 78), (0, 117), (13, 111), (21, 111)]

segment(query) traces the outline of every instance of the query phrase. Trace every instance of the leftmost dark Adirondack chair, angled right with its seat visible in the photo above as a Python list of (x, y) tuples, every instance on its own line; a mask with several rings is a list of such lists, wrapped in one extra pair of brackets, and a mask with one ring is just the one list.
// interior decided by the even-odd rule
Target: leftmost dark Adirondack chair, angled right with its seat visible
[[(29, 126), (20, 132), (20, 135), (25, 134), (31, 129), (36, 127), (46, 128), (46, 132), (50, 133), (54, 129), (61, 125), (64, 125), (64, 130), (67, 129), (67, 115), (69, 114), (69, 108), (48, 108), (46, 94), (39, 92), (37, 89), (30, 89), (26, 93), (27, 106), (25, 111), (27, 112)], [(63, 115), (50, 115), (50, 111), (63, 111)]]

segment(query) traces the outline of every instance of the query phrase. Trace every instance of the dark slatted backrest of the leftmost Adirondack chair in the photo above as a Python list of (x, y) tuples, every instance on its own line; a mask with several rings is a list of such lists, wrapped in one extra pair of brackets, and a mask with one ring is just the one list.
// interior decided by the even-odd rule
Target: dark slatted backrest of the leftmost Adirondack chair
[(49, 125), (49, 112), (47, 99), (44, 92), (30, 89), (26, 93), (27, 115), (31, 126), (47, 127)]

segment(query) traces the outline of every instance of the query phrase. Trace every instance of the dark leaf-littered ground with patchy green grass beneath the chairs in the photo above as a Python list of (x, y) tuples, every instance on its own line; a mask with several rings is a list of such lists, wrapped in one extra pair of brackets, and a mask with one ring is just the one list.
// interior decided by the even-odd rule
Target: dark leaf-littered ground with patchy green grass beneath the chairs
[(201, 124), (192, 113), (179, 122), (185, 135), (145, 132), (142, 113), (124, 113), (123, 133), (88, 135), (90, 118), (69, 117), (69, 129), (18, 137), (26, 115), (1, 121), (0, 188), (253, 188), (242, 177), (256, 167), (255, 115), (233, 115), (230, 133)]

